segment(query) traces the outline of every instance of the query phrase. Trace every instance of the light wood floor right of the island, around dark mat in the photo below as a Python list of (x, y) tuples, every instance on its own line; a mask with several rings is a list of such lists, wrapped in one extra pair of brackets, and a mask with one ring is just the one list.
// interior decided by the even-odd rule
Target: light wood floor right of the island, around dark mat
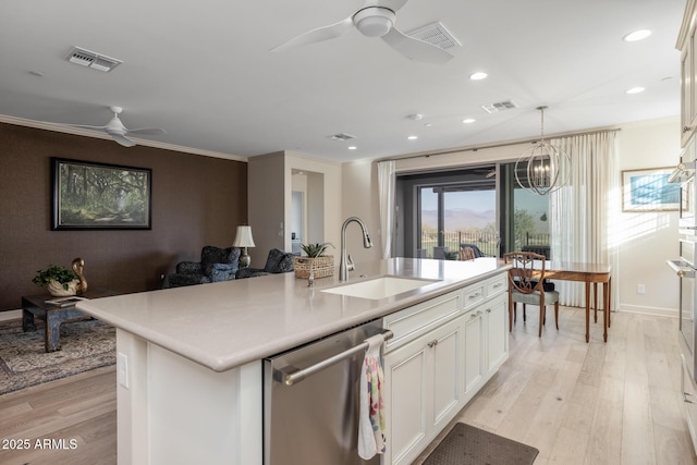
[(518, 308), (509, 360), (454, 421), (539, 449), (535, 465), (697, 464), (680, 396), (677, 319), (613, 313), (608, 343), (591, 319), (587, 344), (585, 310), (562, 308), (559, 331), (548, 311), (541, 339), (539, 310), (527, 314), (524, 325)]

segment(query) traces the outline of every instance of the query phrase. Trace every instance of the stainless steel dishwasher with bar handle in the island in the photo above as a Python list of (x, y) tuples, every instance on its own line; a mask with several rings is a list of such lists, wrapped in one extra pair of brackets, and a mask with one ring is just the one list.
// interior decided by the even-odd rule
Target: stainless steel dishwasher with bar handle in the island
[[(265, 465), (377, 465), (358, 456), (358, 383), (382, 320), (264, 360)], [(389, 444), (388, 444), (389, 446)]]

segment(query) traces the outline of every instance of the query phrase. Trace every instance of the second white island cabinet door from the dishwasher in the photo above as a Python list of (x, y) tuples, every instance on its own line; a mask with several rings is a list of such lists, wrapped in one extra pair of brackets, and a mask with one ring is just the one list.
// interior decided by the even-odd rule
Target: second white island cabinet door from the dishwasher
[(462, 394), (458, 367), (462, 365), (462, 326), (451, 321), (432, 332), (427, 344), (432, 355), (432, 408), (429, 418), (433, 431), (440, 431), (460, 411)]

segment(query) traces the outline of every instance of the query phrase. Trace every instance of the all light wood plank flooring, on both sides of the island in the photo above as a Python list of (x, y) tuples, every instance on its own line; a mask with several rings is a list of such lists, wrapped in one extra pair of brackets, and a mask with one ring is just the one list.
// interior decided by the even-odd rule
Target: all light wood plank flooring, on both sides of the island
[[(584, 313), (560, 313), (561, 330), (548, 320), (541, 339), (535, 307), (525, 326), (518, 318), (510, 359), (456, 420), (536, 446), (536, 465), (697, 464), (680, 399), (677, 320), (616, 313), (608, 343), (591, 323), (586, 344)], [(1, 395), (0, 440), (32, 446), (0, 449), (0, 464), (115, 464), (115, 421), (113, 367)], [(35, 449), (45, 438), (77, 446)]]

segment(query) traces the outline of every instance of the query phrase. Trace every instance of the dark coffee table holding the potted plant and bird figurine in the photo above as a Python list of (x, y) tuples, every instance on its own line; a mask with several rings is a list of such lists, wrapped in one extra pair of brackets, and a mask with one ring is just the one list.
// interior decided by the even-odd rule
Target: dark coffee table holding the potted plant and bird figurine
[[(87, 292), (80, 296), (85, 298), (99, 298), (112, 295), (117, 295), (117, 293), (107, 289), (88, 289)], [(53, 297), (50, 294), (22, 297), (22, 330), (24, 330), (24, 332), (36, 331), (34, 317), (44, 320), (46, 352), (61, 350), (60, 327), (62, 323), (90, 318), (75, 308), (75, 305), (59, 307), (58, 305), (47, 304), (46, 301), (51, 298), (58, 297)]]

